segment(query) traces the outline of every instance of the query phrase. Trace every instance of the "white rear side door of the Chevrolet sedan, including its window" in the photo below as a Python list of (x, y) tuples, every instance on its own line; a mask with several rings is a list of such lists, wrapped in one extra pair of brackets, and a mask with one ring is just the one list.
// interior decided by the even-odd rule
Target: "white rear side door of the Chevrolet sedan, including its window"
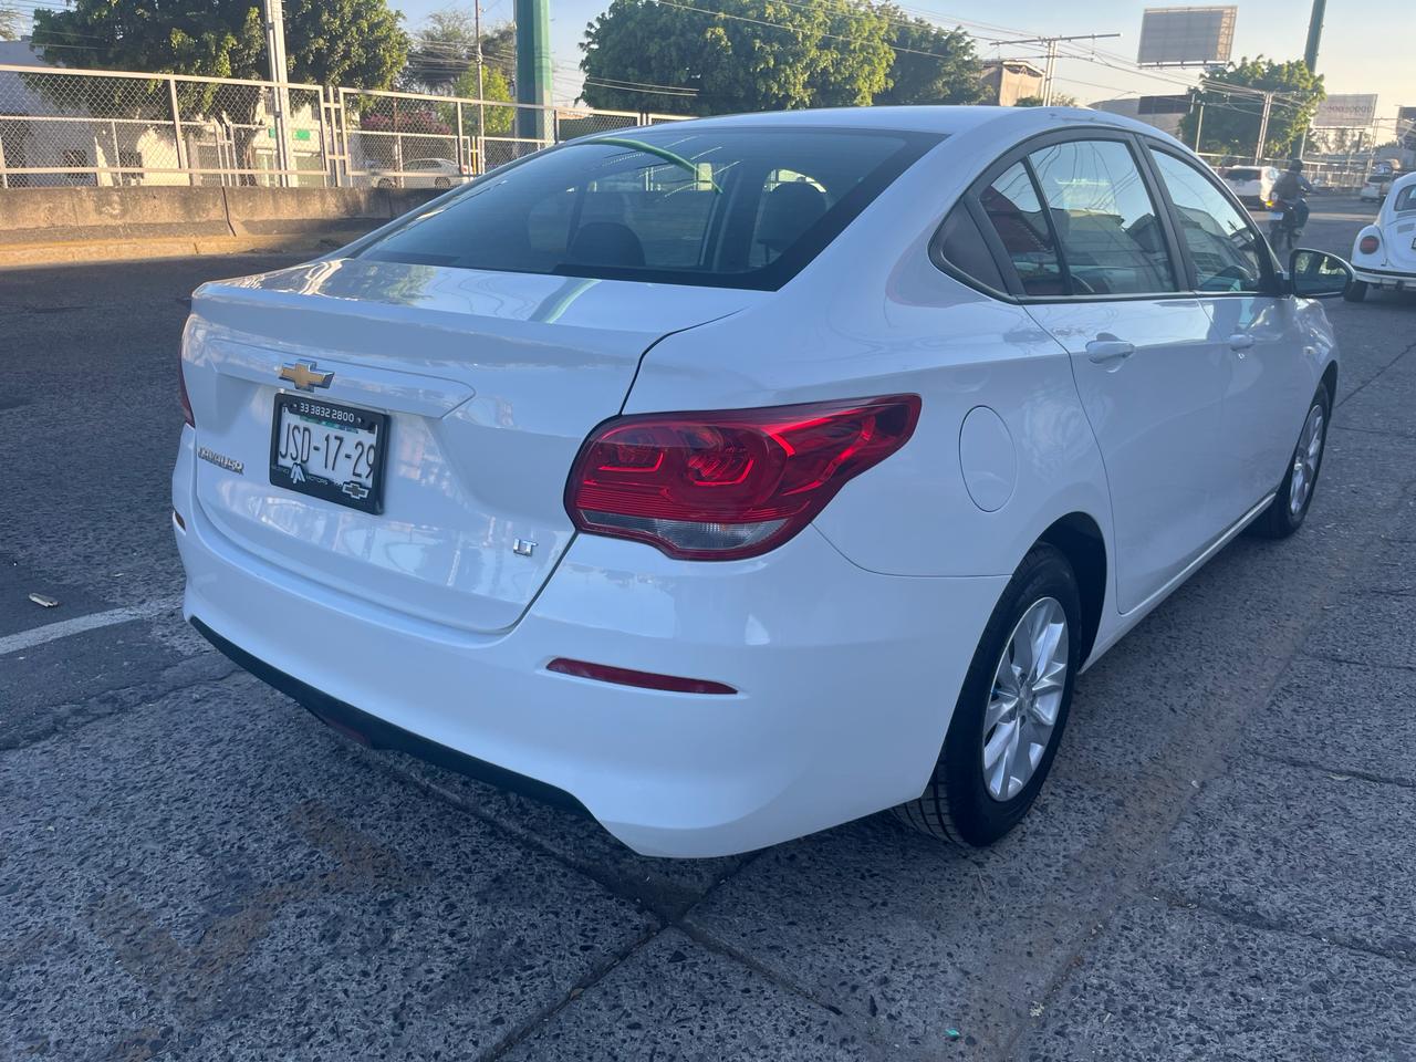
[[(1124, 133), (1054, 136), (980, 193), (1020, 299), (1072, 357), (1106, 464), (1121, 612), (1219, 534), (1211, 491), (1229, 364), (1181, 292), (1168, 215)], [(1045, 207), (1044, 207), (1045, 204)]]

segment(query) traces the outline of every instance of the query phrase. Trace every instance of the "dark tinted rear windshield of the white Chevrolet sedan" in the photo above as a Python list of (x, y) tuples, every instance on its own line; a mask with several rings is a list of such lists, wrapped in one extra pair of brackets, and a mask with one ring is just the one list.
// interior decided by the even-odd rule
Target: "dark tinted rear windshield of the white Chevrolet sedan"
[(489, 173), (360, 256), (770, 290), (942, 139), (666, 125), (572, 140)]

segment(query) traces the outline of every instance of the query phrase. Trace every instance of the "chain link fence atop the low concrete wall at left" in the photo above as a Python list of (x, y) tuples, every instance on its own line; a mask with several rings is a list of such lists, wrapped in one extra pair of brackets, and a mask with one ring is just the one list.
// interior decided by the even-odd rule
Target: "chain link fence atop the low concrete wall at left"
[(561, 140), (680, 120), (415, 92), (0, 65), (0, 187), (450, 187)]

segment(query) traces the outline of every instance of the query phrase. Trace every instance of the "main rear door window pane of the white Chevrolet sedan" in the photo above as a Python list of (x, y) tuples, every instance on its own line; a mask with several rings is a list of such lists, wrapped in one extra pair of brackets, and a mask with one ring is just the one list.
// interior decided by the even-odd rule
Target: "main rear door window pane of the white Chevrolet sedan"
[(1165, 231), (1124, 143), (1069, 140), (1028, 159), (1062, 245), (1072, 295), (1177, 290)]

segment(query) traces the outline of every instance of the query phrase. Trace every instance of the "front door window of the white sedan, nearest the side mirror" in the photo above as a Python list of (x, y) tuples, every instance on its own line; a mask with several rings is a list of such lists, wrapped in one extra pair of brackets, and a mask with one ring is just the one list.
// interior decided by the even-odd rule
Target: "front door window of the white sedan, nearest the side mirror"
[(1189, 163), (1151, 149), (1201, 292), (1263, 290), (1262, 238), (1211, 180)]

